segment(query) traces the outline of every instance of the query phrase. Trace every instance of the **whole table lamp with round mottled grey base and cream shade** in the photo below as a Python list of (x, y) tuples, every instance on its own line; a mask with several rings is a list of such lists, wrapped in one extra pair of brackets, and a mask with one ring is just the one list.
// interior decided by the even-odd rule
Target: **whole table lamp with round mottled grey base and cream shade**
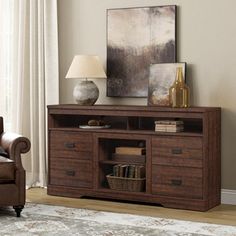
[(79, 81), (73, 91), (73, 97), (79, 105), (91, 106), (99, 96), (97, 85), (88, 78), (106, 78), (98, 56), (76, 55), (66, 74), (66, 78), (84, 79)]

